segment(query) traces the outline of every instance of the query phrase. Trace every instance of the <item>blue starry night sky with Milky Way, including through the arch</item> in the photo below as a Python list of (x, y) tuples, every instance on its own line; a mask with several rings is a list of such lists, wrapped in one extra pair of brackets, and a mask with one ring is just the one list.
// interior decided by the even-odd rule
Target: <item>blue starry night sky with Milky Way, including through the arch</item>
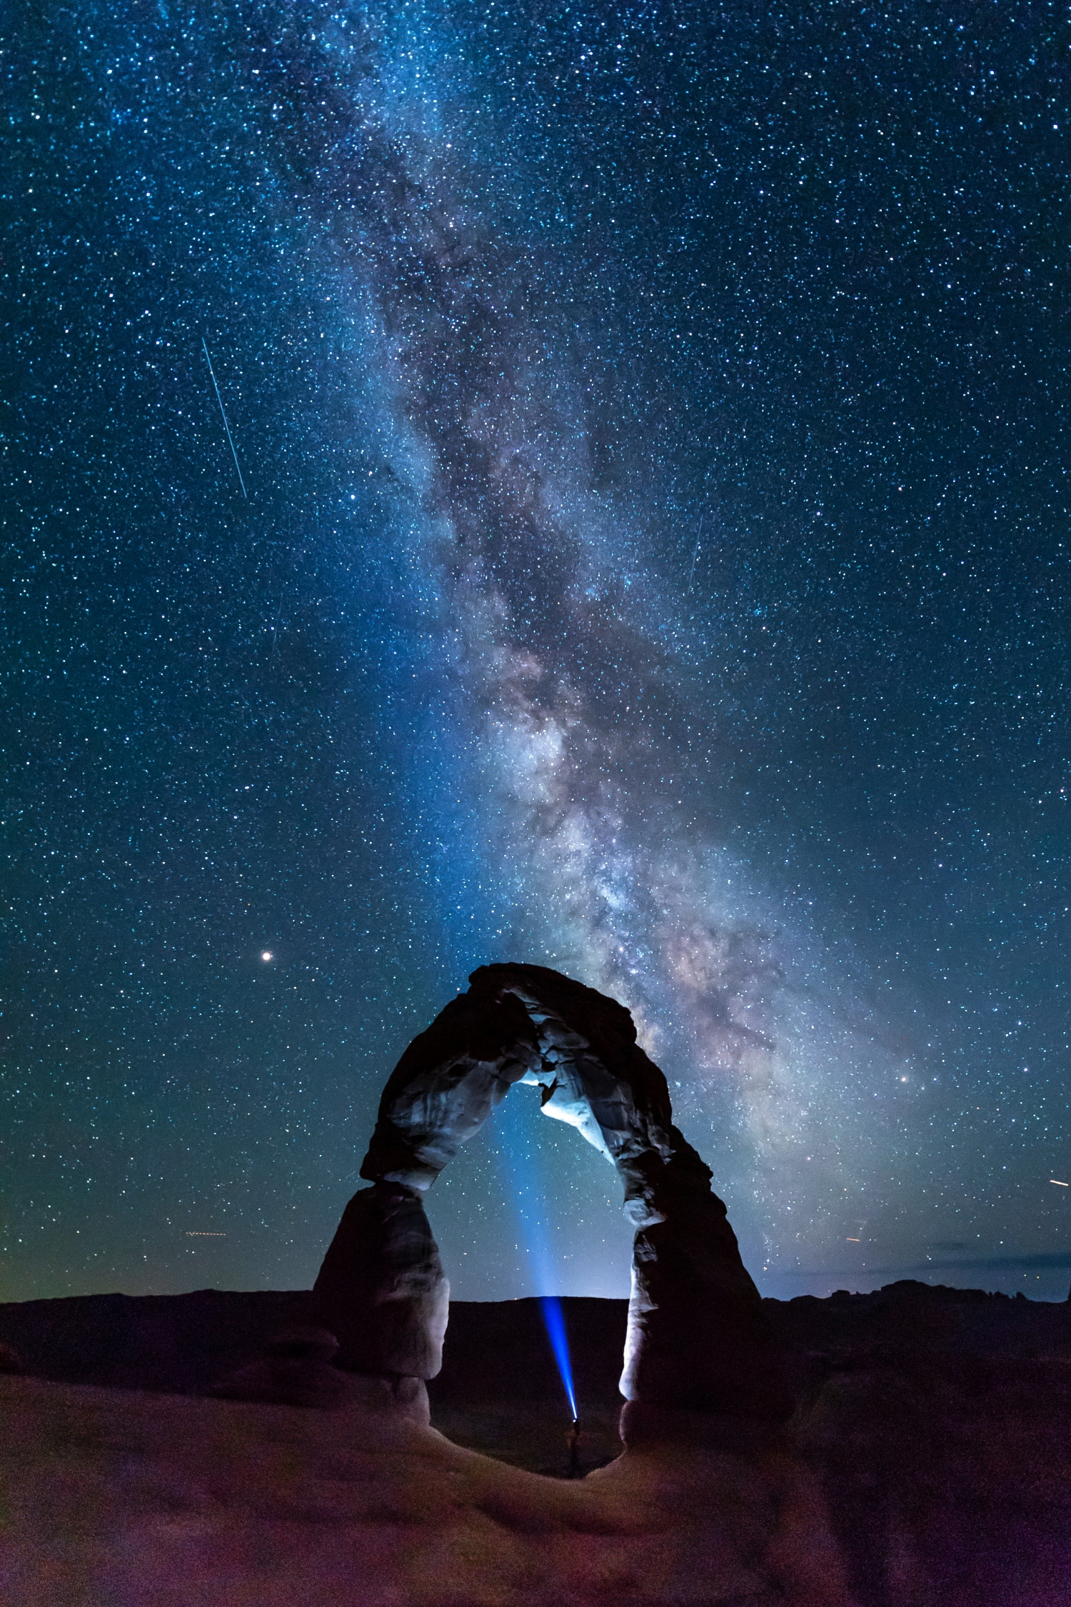
[[(27, 10), (2, 1298), (308, 1287), (493, 959), (633, 1009), (764, 1294), (1066, 1295), (1069, 47)], [(628, 1290), (528, 1090), (429, 1213), (459, 1298)]]

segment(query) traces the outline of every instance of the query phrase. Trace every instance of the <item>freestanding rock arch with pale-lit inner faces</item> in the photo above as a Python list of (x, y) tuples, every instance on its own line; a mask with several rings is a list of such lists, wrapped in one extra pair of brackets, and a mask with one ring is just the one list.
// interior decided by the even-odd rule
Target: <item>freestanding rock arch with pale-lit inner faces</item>
[(615, 1000), (543, 966), (482, 966), (401, 1056), (316, 1279), (320, 1321), (356, 1371), (430, 1379), (448, 1284), (421, 1204), (512, 1083), (618, 1170), (636, 1225), (621, 1393), (650, 1406), (780, 1416), (761, 1300), (711, 1173)]

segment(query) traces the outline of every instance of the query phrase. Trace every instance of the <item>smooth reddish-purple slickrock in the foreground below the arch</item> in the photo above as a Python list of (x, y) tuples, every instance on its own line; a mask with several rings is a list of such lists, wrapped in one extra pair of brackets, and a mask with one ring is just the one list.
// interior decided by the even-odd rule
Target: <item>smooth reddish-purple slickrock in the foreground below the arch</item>
[(0, 1379), (3, 1607), (846, 1607), (808, 1470), (652, 1446), (568, 1483), (339, 1411)]

